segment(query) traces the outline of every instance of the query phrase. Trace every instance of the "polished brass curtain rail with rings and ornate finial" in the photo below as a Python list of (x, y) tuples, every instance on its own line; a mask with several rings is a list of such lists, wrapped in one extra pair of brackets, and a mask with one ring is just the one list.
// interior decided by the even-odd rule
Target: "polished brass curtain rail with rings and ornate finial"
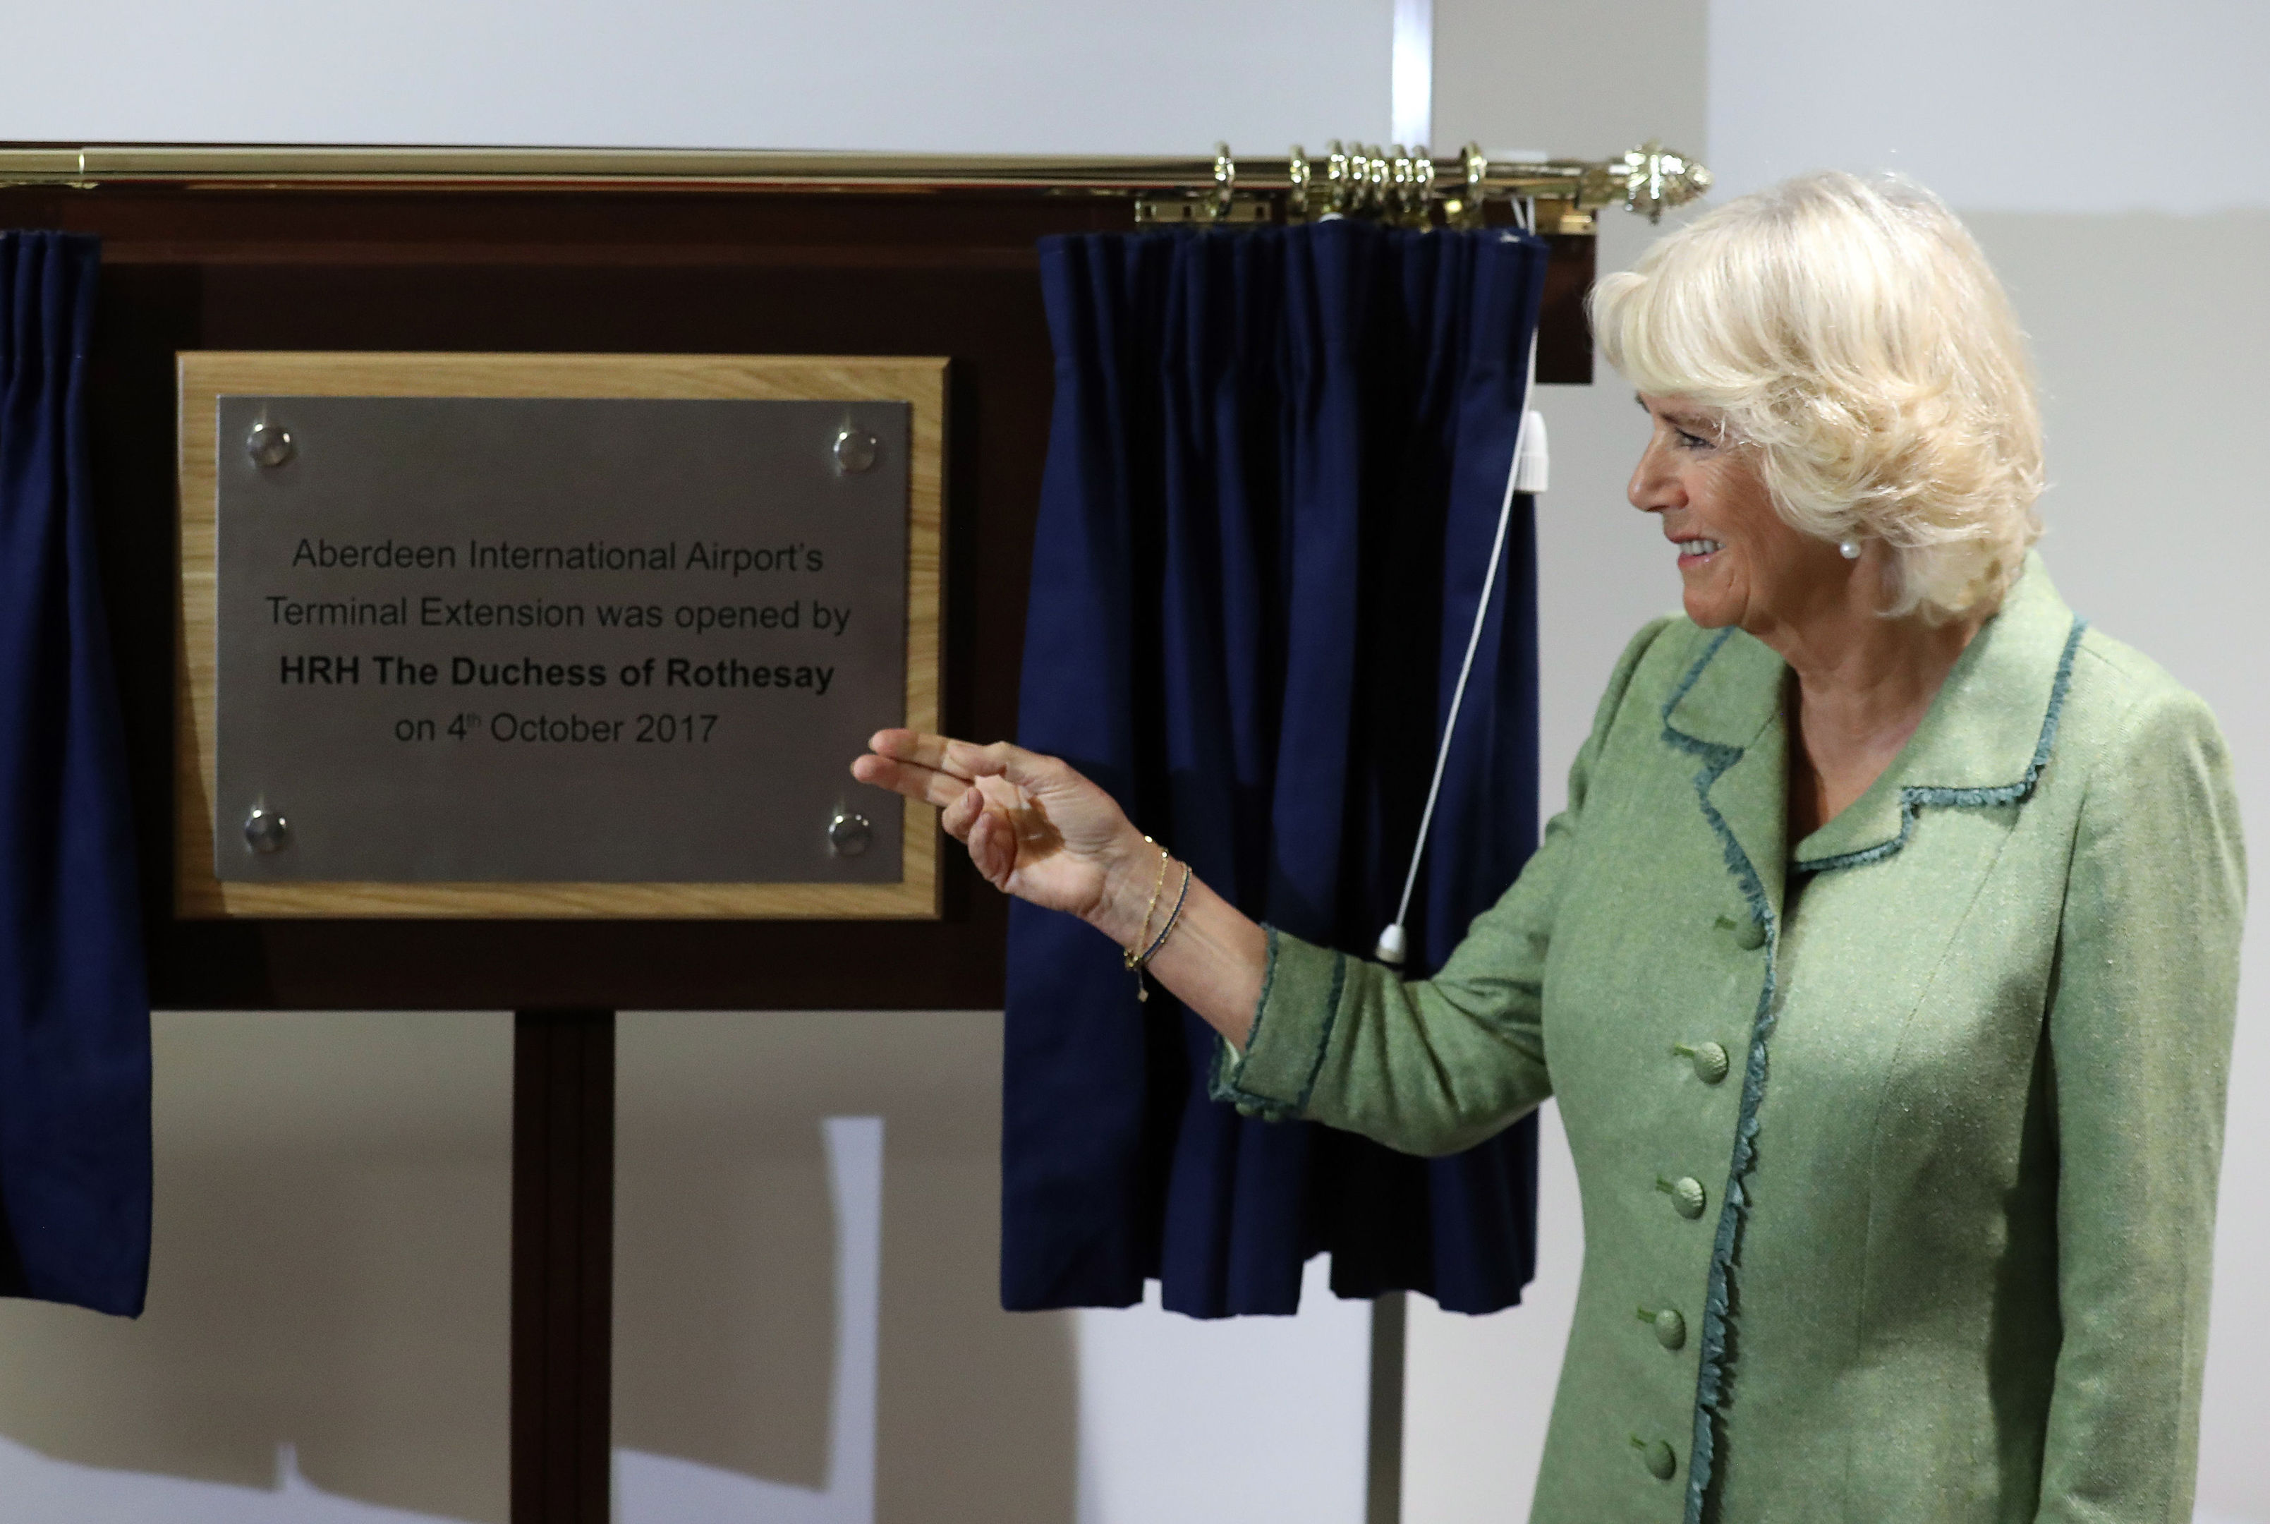
[(0, 186), (177, 189), (658, 189), (658, 191), (1031, 191), (1128, 195), (1142, 223), (1276, 223), (1328, 213), (1478, 223), (1489, 200), (1553, 209), (1582, 232), (1598, 207), (1659, 218), (1702, 195), (1709, 170), (1646, 143), (1621, 159), (1491, 159), (1464, 148), (1330, 143), (1283, 159), (1108, 159), (1058, 154), (865, 154), (676, 148), (316, 148), (316, 145), (0, 145)]

